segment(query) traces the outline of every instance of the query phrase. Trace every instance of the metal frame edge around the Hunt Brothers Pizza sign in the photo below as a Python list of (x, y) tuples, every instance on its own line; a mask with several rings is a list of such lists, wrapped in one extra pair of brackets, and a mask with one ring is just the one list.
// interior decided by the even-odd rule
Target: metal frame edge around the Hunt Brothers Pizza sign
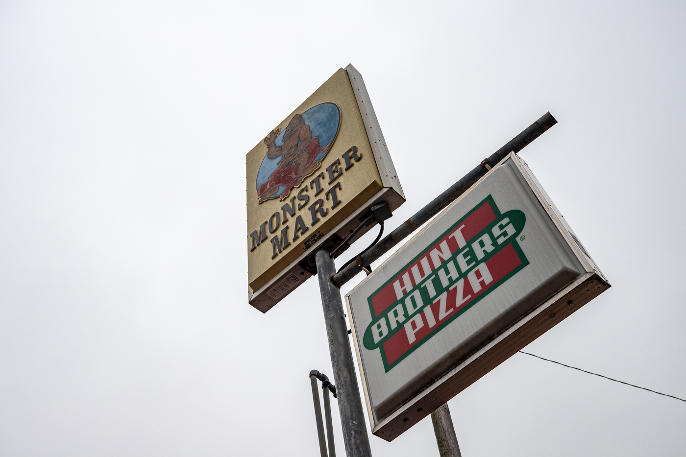
[[(433, 383), (429, 384), (427, 388), (416, 395), (413, 399), (407, 401), (407, 403), (389, 414), (376, 425), (376, 414), (369, 400), (367, 379), (364, 370), (362, 369), (364, 363), (362, 362), (362, 358), (360, 356), (355, 326), (351, 325), (353, 344), (355, 344), (355, 355), (357, 357), (357, 364), (360, 369), (362, 389), (364, 390), (364, 399), (371, 422), (370, 425), (372, 425), (372, 434), (375, 436), (379, 436), (386, 441), (394, 440), (403, 432), (410, 429), (412, 425), (415, 425), (418, 423), (418, 421), (421, 421), (421, 419), (431, 414), (431, 411), (435, 410), (443, 403), (446, 403), (449, 399), (453, 398), (459, 392), (469, 387), (482, 376), (486, 375), (486, 373), (491, 371), (493, 368), (517, 353), (517, 351), (525, 347), (527, 344), (541, 336), (549, 329), (552, 329), (552, 327), (569, 317), (577, 309), (580, 309), (580, 307), (586, 303), (589, 303), (589, 301), (593, 300), (593, 298), (602, 294), (602, 292), (611, 287), (610, 283), (604, 277), (604, 274), (602, 274), (600, 271), (600, 268), (598, 268), (598, 266), (595, 264), (595, 261), (593, 261), (590, 255), (584, 253), (584, 250), (582, 250), (580, 246), (580, 242), (576, 242), (576, 234), (573, 233), (571, 227), (564, 220), (560, 211), (547, 196), (545, 190), (543, 190), (541, 184), (530, 171), (528, 165), (514, 152), (510, 152), (510, 154), (505, 156), (495, 167), (492, 167), (488, 173), (484, 174), (482, 178), (471, 185), (471, 187), (469, 187), (469, 189), (467, 189), (464, 194), (460, 196), (460, 198), (456, 199), (454, 202), (451, 202), (448, 207), (438, 213), (438, 215), (436, 215), (431, 221), (440, 218), (440, 216), (453, 207), (454, 204), (457, 204), (457, 202), (462, 200), (464, 196), (469, 194), (471, 189), (480, 184), (482, 180), (486, 178), (486, 176), (489, 176), (494, 169), (505, 163), (508, 159), (513, 159), (513, 163), (517, 166), (517, 169), (534, 192), (534, 196), (536, 196), (536, 199), (539, 200), (541, 207), (543, 207), (545, 213), (547, 213), (549, 218), (551, 218), (552, 222), (556, 226), (556, 229), (558, 229), (560, 235), (563, 236), (573, 254), (577, 257), (578, 261), (580, 261), (584, 270), (586, 270), (586, 273), (582, 274), (572, 283), (560, 290), (557, 294), (539, 305), (539, 307), (536, 307), (530, 313), (523, 316), (523, 318), (517, 321), (517, 323), (514, 323), (514, 325), (512, 325), (509, 329), (506, 329), (500, 333), (499, 336), (473, 353), (473, 355), (464, 360), (464, 362), (458, 364), (458, 366), (445, 373), (445, 375), (442, 375), (442, 377), (439, 377)], [(405, 248), (405, 246), (410, 244), (414, 239), (416, 239), (416, 237), (421, 235), (421, 233), (430, 225), (431, 222), (426, 224), (396, 252), (399, 252)], [(386, 259), (386, 261), (381, 263), (381, 266), (390, 261), (392, 257), (394, 257), (394, 255), (390, 256), (388, 259)], [(381, 266), (377, 267), (377, 269), (381, 268)], [(596, 281), (598, 285), (595, 285)], [(591, 283), (593, 283), (593, 288), (589, 287), (586, 290), (588, 293), (584, 294), (584, 288), (586, 285)], [(356, 285), (355, 288), (353, 288), (353, 290), (348, 292), (348, 294), (345, 296), (348, 316), (351, 316), (351, 320), (353, 318), (353, 309), (350, 304), (350, 294), (357, 287), (359, 287), (359, 284)], [(572, 303), (567, 304), (569, 301)], [(546, 317), (545, 313), (551, 311), (552, 316)], [(538, 322), (539, 320), (543, 320), (543, 322)], [(547, 323), (545, 320), (547, 320)], [(493, 359), (493, 363), (488, 364), (487, 366), (484, 366), (484, 364), (479, 365), (473, 363), (488, 351), (495, 351), (494, 354), (497, 354), (495, 359)], [(486, 360), (484, 359), (484, 362), (485, 361)], [(458, 375), (458, 373), (460, 374)], [(452, 379), (453, 377), (456, 379)]]

